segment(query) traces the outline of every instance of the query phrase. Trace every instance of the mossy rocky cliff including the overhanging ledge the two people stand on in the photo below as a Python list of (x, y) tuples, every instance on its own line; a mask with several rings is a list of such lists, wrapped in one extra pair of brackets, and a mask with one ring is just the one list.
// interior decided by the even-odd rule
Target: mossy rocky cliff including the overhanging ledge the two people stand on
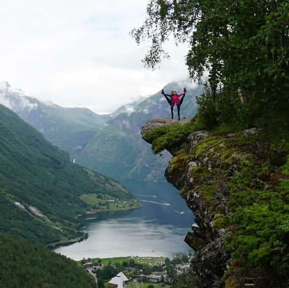
[[(180, 190), (181, 197), (195, 215), (192, 231), (185, 238), (195, 250), (192, 273), (204, 288), (273, 287), (274, 280), (264, 276), (260, 269), (251, 269), (251, 274), (246, 269), (235, 269), (242, 263), (232, 258), (231, 247), (225, 245), (225, 239), (235, 237), (235, 231), (239, 229), (237, 222), (232, 221), (239, 205), (236, 203), (238, 197), (232, 195), (242, 193), (244, 188), (239, 182), (246, 185), (247, 190), (272, 189), (272, 185), (276, 185), (273, 178), (284, 177), (280, 171), (278, 175), (276, 169), (286, 161), (285, 150), (272, 148), (269, 142), (259, 140), (256, 128), (230, 133), (193, 131), (188, 134), (190, 129), (184, 125), (188, 126), (190, 122), (191, 119), (179, 122), (154, 119), (144, 124), (142, 136), (154, 147), (158, 145), (158, 150), (154, 148), (155, 153), (166, 149), (173, 155), (165, 176)], [(182, 141), (176, 137), (174, 143), (168, 143), (163, 136), (169, 133), (165, 129), (171, 125), (187, 131), (188, 135)], [(271, 172), (275, 176), (272, 177)], [(276, 285), (280, 286), (274, 287), (283, 287)]]

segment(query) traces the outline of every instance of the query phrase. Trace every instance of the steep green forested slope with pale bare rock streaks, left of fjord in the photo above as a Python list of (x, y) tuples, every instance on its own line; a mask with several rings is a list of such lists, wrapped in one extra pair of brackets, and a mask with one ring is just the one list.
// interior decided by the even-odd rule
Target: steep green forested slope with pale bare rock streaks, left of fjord
[(74, 165), (67, 152), (0, 105), (0, 232), (41, 243), (81, 237), (83, 194), (131, 198), (118, 182)]

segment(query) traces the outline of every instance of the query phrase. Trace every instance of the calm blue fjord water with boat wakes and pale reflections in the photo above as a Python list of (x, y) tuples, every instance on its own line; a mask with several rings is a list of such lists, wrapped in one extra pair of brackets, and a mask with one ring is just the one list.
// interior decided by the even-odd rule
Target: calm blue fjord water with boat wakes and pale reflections
[[(166, 182), (122, 183), (142, 207), (130, 211), (102, 212), (82, 218), (89, 238), (56, 252), (75, 260), (83, 257), (166, 256), (186, 253), (184, 242), (193, 224), (193, 213), (179, 191)], [(169, 205), (168, 205), (169, 204)]]

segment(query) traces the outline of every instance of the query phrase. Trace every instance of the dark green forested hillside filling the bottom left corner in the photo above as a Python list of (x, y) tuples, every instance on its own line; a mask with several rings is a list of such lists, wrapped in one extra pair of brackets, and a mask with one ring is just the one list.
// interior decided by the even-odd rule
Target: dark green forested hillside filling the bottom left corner
[(77, 262), (20, 237), (0, 233), (1, 288), (95, 288)]

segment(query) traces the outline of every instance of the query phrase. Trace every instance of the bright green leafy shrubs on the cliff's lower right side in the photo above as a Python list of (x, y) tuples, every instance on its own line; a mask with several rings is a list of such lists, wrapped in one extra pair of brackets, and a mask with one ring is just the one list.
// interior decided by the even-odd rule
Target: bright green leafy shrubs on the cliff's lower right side
[[(234, 236), (228, 237), (227, 245), (234, 260), (246, 268), (261, 267), (279, 281), (289, 279), (288, 168), (289, 158), (282, 167), (283, 173), (274, 171), (269, 163), (261, 167), (245, 165), (230, 184), (230, 206), (234, 211), (231, 225), (238, 229)], [(268, 177), (271, 185), (277, 181), (276, 187), (248, 188), (248, 183), (257, 176), (263, 180)]]

